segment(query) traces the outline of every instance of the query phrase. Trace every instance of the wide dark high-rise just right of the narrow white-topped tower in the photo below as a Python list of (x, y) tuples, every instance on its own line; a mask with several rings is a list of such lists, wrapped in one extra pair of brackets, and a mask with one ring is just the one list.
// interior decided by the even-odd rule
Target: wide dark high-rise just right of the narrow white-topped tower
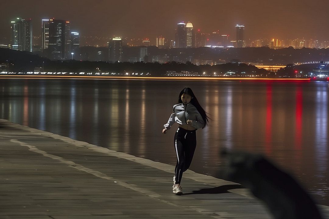
[(50, 19), (47, 56), (54, 60), (69, 59), (71, 56), (70, 46), (70, 22)]

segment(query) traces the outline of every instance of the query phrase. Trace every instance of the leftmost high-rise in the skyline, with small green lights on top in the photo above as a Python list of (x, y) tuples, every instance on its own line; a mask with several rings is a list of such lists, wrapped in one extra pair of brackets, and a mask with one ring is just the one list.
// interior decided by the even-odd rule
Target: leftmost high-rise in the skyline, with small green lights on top
[(32, 37), (31, 19), (11, 22), (11, 49), (32, 52)]

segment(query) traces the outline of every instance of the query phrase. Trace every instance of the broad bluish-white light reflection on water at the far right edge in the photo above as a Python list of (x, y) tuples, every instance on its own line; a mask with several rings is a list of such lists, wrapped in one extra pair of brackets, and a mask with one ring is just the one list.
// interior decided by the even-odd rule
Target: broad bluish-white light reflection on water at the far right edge
[(328, 162), (328, 98), (326, 87), (317, 87), (315, 116), (316, 169), (318, 170), (317, 176), (322, 178), (325, 177), (325, 174), (327, 173)]

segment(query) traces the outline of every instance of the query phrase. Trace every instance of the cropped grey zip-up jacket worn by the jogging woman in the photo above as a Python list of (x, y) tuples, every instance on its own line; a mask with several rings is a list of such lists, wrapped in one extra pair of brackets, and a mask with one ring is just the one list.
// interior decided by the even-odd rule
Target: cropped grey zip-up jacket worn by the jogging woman
[(195, 106), (191, 103), (184, 105), (183, 103), (176, 104), (172, 107), (173, 113), (170, 115), (169, 120), (164, 124), (164, 128), (170, 129), (171, 126), (177, 122), (178, 124), (187, 124), (187, 120), (192, 120), (192, 126), (195, 129), (202, 128), (205, 124), (202, 116)]

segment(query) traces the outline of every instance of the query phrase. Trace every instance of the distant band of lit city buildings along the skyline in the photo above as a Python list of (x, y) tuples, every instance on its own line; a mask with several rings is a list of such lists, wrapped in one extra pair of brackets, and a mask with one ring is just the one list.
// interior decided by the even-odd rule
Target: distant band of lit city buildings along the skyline
[[(65, 35), (62, 35), (58, 40), (63, 41), (62, 43), (67, 44), (66, 46), (62, 45), (61, 47), (65, 47), (65, 57), (67, 57), (67, 54), (71, 54), (74, 52), (75, 49), (79, 48), (81, 46), (96, 46), (96, 47), (104, 47), (109, 46), (111, 39), (108, 39), (108, 37), (103, 37), (104, 39), (107, 39), (106, 42), (103, 42), (103, 45), (90, 45), (88, 42), (82, 42), (80, 44), (80, 33), (79, 32), (70, 32), (70, 21), (65, 20), (57, 20), (55, 18), (53, 19), (42, 19), (41, 20), (41, 29), (42, 34), (41, 36), (35, 36), (32, 32), (32, 20), (28, 19), (28, 22), (26, 22), (26, 19), (24, 18), (16, 18), (17, 21), (11, 21), (11, 43), (9, 45), (1, 44), (0, 47), (3, 48), (11, 48), (14, 50), (28, 50), (32, 52), (35, 51), (44, 51), (45, 49), (48, 49), (49, 44), (49, 24), (54, 23), (54, 21), (60, 21), (60, 23), (66, 23), (66, 26), (68, 25), (68, 30), (64, 31), (63, 27), (58, 29), (59, 27), (56, 25), (56, 28), (58, 29), (59, 33), (56, 33), (56, 35), (62, 35), (64, 32)], [(26, 24), (25, 24), (26, 23)], [(27, 25), (27, 26), (26, 26)], [(26, 27), (25, 27), (26, 26)], [(55, 26), (54, 26), (55, 27)], [(237, 24), (235, 26), (236, 28), (236, 35), (230, 36), (229, 34), (222, 34), (219, 30), (214, 31), (212, 33), (202, 33), (200, 32), (200, 29), (195, 30), (193, 29), (193, 24), (189, 21), (186, 24), (184, 22), (180, 22), (177, 24), (177, 28), (174, 30), (175, 32), (175, 38), (174, 40), (165, 38), (161, 36), (163, 40), (163, 45), (160, 45), (161, 48), (185, 48), (185, 47), (191, 47), (191, 48), (197, 48), (202, 46), (207, 47), (264, 47), (268, 46), (270, 48), (276, 49), (276, 48), (286, 48), (292, 46), (293, 48), (329, 48), (329, 41), (319, 41), (315, 38), (313, 39), (305, 39), (305, 38), (297, 38), (297, 39), (278, 39), (278, 38), (266, 38), (262, 37), (260, 39), (246, 39), (244, 38), (244, 25)], [(62, 30), (63, 29), (63, 30)], [(29, 30), (29, 31), (27, 31)], [(54, 33), (57, 32), (54, 29)], [(23, 37), (23, 38), (20, 38)], [(115, 35), (113, 36), (116, 37)], [(111, 37), (111, 38), (113, 38)], [(33, 38), (33, 42), (32, 42)], [(63, 39), (62, 39), (63, 38)], [(71, 38), (75, 39), (75, 42), (71, 42)], [(88, 36), (82, 36), (82, 39), (90, 38)], [(95, 37), (95, 39), (101, 39), (102, 37)], [(128, 38), (128, 37), (119, 37), (122, 38), (123, 45), (126, 46), (158, 46), (159, 44), (159, 37), (156, 37), (154, 40), (150, 40), (149, 38)], [(19, 39), (19, 40), (18, 40)], [(27, 40), (28, 39), (28, 40)], [(40, 42), (41, 40), (41, 42)], [(55, 40), (55, 41), (58, 41)], [(64, 42), (67, 41), (67, 42)], [(29, 45), (29, 48), (26, 47), (26, 43)], [(59, 41), (58, 41), (59, 42)], [(56, 44), (58, 44), (58, 42)], [(98, 42), (99, 43), (99, 42)], [(16, 45), (17, 44), (17, 45)], [(23, 45), (24, 44), (24, 45)], [(32, 44), (35, 49), (32, 49)], [(51, 43), (49, 45), (54, 44)], [(41, 46), (41, 50), (38, 49), (38, 47)], [(56, 52), (57, 53), (57, 52)], [(63, 54), (64, 54), (63, 53)], [(44, 54), (45, 55), (45, 54)]]

